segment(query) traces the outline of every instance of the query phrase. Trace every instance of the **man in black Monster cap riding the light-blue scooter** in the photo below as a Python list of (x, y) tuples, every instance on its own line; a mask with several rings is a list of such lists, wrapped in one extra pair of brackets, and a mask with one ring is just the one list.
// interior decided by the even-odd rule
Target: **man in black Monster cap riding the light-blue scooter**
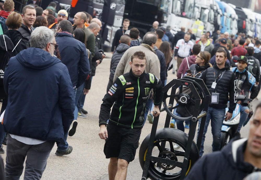
[[(254, 99), (258, 95), (257, 86), (255, 84), (256, 78), (246, 70), (247, 63), (247, 58), (245, 56), (240, 56), (238, 58), (238, 66), (232, 68), (232, 71), (236, 76), (236, 93), (245, 95), (246, 97), (249, 97), (249, 94), (251, 94), (250, 99)], [(240, 136), (240, 129), (250, 112), (249, 108), (247, 107), (248, 103), (249, 101), (238, 102), (240, 105), (240, 121), (236, 131), (237, 136)]]

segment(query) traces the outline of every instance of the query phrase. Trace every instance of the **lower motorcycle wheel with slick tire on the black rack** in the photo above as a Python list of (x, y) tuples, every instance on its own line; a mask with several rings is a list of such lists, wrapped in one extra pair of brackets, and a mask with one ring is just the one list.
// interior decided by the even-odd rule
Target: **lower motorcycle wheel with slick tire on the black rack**
[[(150, 140), (150, 134), (143, 140), (140, 146), (139, 161), (142, 169), (146, 160), (149, 140)], [(182, 163), (185, 156), (187, 140), (188, 140), (188, 135), (178, 129), (173, 129), (173, 128), (158, 129), (153, 144), (152, 156), (176, 160)], [(162, 143), (166, 143), (164, 149), (161, 148)], [(177, 148), (179, 149), (177, 150)], [(195, 142), (193, 141), (186, 175), (189, 172), (189, 170), (191, 170), (192, 165), (198, 159), (199, 159), (199, 151)], [(168, 165), (164, 163), (156, 163), (153, 161), (150, 162), (148, 177), (151, 179), (155, 179), (155, 180), (180, 179), (180, 175), (181, 175), (180, 167), (174, 165)]]

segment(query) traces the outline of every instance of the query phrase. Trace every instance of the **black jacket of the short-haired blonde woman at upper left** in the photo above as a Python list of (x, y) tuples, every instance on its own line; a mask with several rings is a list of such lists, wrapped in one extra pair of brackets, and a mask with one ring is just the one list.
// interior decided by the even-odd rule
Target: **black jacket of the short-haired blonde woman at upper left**
[(5, 32), (4, 34), (7, 35), (11, 39), (14, 46), (16, 46), (17, 43), (22, 39), (15, 48), (17, 53), (19, 53), (23, 49), (27, 49), (29, 47), (29, 43), (28, 43), (29, 39), (23, 37), (22, 34), (18, 30), (10, 29), (7, 32)]

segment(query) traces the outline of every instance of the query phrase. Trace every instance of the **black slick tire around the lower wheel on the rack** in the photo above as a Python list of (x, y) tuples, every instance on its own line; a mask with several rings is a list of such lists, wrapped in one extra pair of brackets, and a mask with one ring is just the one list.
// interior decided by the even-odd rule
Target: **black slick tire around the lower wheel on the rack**
[[(146, 159), (149, 140), (150, 140), (150, 134), (143, 140), (143, 142), (141, 143), (141, 146), (140, 146), (140, 150), (139, 150), (139, 161), (140, 161), (140, 166), (142, 169), (143, 169), (145, 159)], [(178, 129), (173, 129), (173, 128), (158, 129), (156, 132), (153, 147), (155, 146), (155, 144), (157, 144), (159, 142), (166, 141), (166, 145), (168, 145), (167, 141), (171, 141), (173, 143), (178, 144), (182, 149), (185, 150), (186, 146), (187, 146), (187, 140), (188, 140), (188, 135)], [(197, 148), (197, 145), (195, 144), (195, 142), (192, 141), (192, 147), (191, 147), (191, 151), (190, 151), (189, 163), (188, 163), (186, 175), (189, 172), (189, 170), (191, 170), (191, 167), (198, 159), (199, 159), (199, 151), (198, 151), (198, 148)], [(179, 172), (179, 174), (176, 174), (173, 176), (171, 176), (171, 175), (164, 176), (163, 174), (159, 173), (157, 170), (154, 169), (153, 163), (150, 163), (150, 167), (149, 167), (149, 171), (148, 171), (148, 178), (153, 179), (153, 180), (180, 179), (180, 172)]]

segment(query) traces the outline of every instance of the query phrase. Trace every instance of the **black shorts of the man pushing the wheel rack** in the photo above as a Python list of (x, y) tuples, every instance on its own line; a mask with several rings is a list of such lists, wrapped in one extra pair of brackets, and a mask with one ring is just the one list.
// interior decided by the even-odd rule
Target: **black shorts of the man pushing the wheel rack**
[(141, 129), (130, 129), (109, 122), (107, 131), (108, 138), (103, 150), (106, 158), (116, 157), (128, 163), (133, 161), (139, 146)]

